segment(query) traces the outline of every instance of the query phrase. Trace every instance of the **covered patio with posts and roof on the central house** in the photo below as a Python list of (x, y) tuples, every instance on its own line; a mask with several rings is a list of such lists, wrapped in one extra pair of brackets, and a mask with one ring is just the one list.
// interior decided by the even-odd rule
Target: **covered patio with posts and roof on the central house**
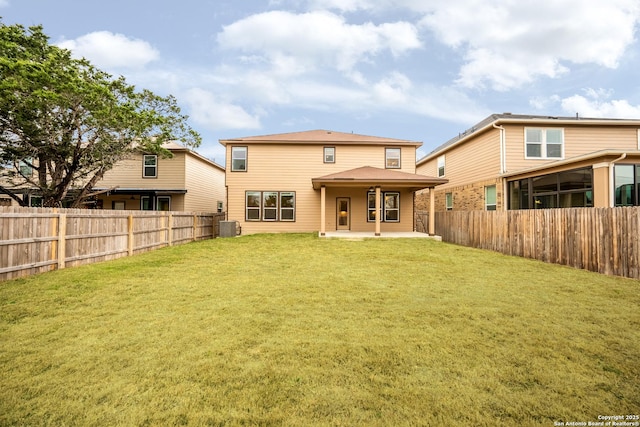
[(434, 192), (429, 192), (428, 234), (414, 232), (413, 193), (425, 188), (433, 189), (447, 182), (443, 178), (371, 166), (313, 178), (311, 181), (314, 190), (320, 191), (320, 236), (343, 237), (349, 234), (352, 238), (401, 237), (400, 234), (404, 234), (403, 237), (433, 236)]

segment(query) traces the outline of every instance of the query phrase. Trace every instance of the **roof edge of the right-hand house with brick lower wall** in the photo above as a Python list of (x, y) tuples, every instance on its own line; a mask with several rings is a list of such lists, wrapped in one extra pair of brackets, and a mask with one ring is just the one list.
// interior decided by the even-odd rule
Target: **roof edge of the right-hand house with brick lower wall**
[(437, 147), (435, 150), (418, 160), (417, 164), (420, 165), (427, 160), (431, 160), (434, 157), (444, 153), (448, 149), (463, 144), (472, 137), (493, 128), (494, 125), (500, 126), (503, 124), (535, 124), (535, 125), (627, 125), (627, 126), (640, 126), (640, 119), (610, 119), (610, 118), (587, 118), (580, 117), (576, 114), (575, 117), (560, 117), (560, 116), (540, 116), (529, 114), (491, 114), (482, 121), (476, 123), (464, 132), (460, 132), (457, 136), (451, 138), (444, 144)]

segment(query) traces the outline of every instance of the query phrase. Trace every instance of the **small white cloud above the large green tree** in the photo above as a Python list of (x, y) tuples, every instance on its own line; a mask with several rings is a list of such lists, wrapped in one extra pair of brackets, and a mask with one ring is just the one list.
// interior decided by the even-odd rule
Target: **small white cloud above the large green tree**
[(87, 58), (98, 68), (141, 68), (159, 59), (160, 53), (148, 42), (109, 31), (96, 31), (58, 46), (76, 57)]

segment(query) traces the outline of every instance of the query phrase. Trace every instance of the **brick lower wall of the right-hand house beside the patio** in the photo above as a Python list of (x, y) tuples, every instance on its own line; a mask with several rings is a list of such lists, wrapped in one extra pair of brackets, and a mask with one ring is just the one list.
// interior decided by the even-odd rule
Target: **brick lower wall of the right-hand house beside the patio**
[[(449, 187), (446, 190), (435, 188), (435, 210), (441, 212), (446, 210), (445, 194), (453, 193), (453, 210), (454, 211), (483, 211), (484, 205), (484, 188), (486, 186), (496, 186), (496, 209), (502, 210), (502, 184), (500, 179), (492, 179), (488, 181), (475, 182), (473, 184), (461, 185), (459, 187)], [(415, 210), (429, 211), (429, 190), (416, 192)]]

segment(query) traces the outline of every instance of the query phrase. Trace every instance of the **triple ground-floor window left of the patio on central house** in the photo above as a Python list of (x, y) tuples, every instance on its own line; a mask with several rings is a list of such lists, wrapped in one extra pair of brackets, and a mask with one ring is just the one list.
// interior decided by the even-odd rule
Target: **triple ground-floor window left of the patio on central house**
[(293, 191), (247, 191), (247, 221), (295, 221), (296, 193)]

